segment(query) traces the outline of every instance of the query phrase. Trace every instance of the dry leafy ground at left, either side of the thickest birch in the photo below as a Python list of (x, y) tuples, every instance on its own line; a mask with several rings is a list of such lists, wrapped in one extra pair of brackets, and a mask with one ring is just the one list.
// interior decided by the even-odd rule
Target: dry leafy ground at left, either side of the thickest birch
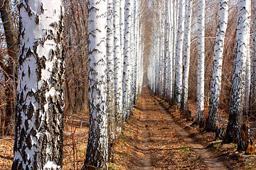
[[(83, 119), (89, 118), (88, 112), (78, 113)], [(73, 132), (73, 133), (72, 133)], [(85, 121), (73, 117), (64, 123), (63, 169), (81, 169), (85, 161), (88, 128)], [(0, 138), (0, 169), (11, 169), (14, 159), (14, 137)], [(73, 140), (74, 139), (74, 140)], [(75, 147), (74, 147), (75, 146)]]

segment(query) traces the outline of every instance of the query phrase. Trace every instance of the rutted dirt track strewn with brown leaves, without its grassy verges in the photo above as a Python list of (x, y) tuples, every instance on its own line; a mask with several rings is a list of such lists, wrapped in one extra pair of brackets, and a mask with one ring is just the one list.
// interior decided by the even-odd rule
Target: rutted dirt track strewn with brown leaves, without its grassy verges
[(134, 158), (132, 169), (226, 169), (174, 122), (149, 89), (144, 88), (138, 102), (142, 111), (138, 115), (136, 147), (144, 157), (141, 162)]

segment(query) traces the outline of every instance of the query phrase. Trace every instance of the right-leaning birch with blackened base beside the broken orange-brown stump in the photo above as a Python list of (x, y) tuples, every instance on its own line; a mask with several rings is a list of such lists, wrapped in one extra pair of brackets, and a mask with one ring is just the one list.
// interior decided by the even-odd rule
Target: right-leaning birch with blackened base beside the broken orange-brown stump
[[(250, 0), (238, 1), (238, 26), (233, 67), (230, 113), (225, 142), (238, 142), (242, 124), (242, 109), (245, 93), (245, 63), (250, 36)], [(238, 142), (239, 143), (239, 142)], [(239, 146), (238, 146), (239, 147)]]

